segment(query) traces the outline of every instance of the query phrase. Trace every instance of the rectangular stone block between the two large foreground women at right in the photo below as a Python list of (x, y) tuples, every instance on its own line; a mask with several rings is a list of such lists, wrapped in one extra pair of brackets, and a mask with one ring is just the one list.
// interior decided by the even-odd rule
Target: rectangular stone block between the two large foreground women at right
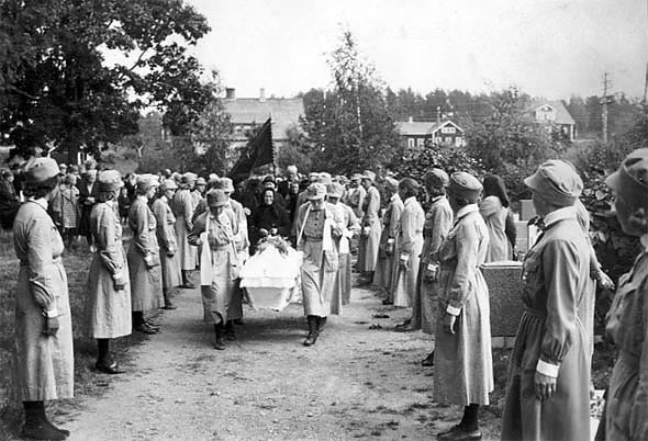
[(481, 271), (489, 286), (493, 347), (511, 347), (524, 309), (519, 299), (522, 262), (489, 262)]

